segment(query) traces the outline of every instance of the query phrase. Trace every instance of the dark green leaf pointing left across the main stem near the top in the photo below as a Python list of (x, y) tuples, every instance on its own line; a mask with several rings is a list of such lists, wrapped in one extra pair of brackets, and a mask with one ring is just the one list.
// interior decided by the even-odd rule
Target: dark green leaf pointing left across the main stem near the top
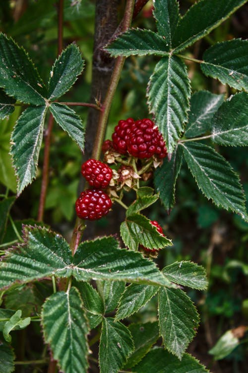
[(168, 42), (151, 30), (130, 29), (104, 48), (112, 57), (144, 56), (155, 54), (168, 56)]

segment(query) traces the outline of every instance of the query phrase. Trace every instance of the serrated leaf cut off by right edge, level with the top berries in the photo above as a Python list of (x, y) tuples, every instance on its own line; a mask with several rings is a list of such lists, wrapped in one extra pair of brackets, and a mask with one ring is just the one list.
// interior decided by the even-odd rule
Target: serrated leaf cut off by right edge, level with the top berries
[(248, 93), (231, 96), (215, 113), (211, 139), (226, 146), (248, 145)]

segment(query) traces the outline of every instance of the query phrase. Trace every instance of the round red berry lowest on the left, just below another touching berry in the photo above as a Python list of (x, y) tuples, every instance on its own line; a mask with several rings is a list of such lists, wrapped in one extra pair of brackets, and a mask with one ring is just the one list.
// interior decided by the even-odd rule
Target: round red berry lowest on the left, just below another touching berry
[(107, 215), (112, 200), (101, 189), (86, 189), (76, 200), (76, 214), (80, 219), (97, 220)]

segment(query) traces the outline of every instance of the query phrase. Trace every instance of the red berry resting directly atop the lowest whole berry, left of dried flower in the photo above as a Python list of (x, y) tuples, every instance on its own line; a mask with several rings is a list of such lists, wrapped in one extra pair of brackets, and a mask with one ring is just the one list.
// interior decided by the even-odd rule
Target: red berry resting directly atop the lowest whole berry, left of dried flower
[(106, 188), (112, 179), (112, 170), (108, 165), (88, 159), (81, 167), (81, 174), (85, 177), (91, 187)]

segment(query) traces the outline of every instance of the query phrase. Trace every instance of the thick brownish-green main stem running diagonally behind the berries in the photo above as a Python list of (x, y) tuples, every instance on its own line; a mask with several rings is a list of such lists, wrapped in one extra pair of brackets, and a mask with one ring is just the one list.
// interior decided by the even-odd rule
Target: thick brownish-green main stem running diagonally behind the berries
[[(127, 0), (124, 12), (124, 18), (122, 20), (122, 31), (126, 31), (131, 24), (132, 14), (133, 14), (133, 7), (134, 7), (135, 0)], [(118, 57), (116, 60), (116, 64), (111, 76), (110, 84), (106, 93), (105, 100), (101, 106), (101, 113), (98, 120), (97, 132), (95, 136), (95, 141), (93, 145), (92, 151), (92, 158), (99, 159), (101, 154), (101, 147), (105, 136), (107, 121), (109, 117), (109, 112), (112, 104), (112, 100), (114, 94), (117, 89), (118, 82), (121, 77), (123, 65), (124, 65), (125, 57)], [(72, 255), (75, 254), (77, 247), (80, 243), (83, 230), (85, 228), (84, 223), (81, 219), (77, 218), (75, 222), (75, 227), (72, 233), (71, 242), (70, 242), (70, 249)]]

